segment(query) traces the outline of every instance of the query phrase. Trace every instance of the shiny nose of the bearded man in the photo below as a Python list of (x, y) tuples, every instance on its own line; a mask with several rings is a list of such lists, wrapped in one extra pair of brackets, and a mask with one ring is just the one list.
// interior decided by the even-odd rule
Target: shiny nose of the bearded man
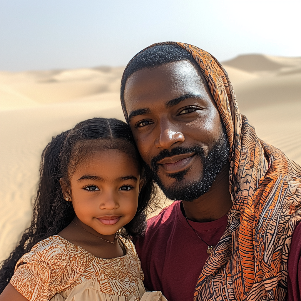
[(184, 142), (185, 138), (182, 132), (174, 129), (171, 123), (162, 122), (160, 124), (159, 136), (155, 140), (155, 147), (169, 149), (173, 144)]

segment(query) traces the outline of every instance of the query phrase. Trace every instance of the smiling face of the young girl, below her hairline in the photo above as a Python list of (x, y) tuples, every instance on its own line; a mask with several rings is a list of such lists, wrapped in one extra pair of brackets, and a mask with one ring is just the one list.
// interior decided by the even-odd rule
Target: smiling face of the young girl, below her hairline
[(76, 166), (70, 197), (82, 223), (112, 235), (135, 216), (142, 185), (135, 159), (118, 150), (99, 151)]

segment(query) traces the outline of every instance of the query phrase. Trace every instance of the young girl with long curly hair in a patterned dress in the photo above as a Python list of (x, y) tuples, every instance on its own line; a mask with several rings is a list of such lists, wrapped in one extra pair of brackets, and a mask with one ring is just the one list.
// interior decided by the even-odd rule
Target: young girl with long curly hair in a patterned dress
[(94, 118), (42, 154), (33, 221), (0, 270), (0, 300), (159, 301), (145, 292), (130, 237), (144, 231), (153, 182), (126, 123)]

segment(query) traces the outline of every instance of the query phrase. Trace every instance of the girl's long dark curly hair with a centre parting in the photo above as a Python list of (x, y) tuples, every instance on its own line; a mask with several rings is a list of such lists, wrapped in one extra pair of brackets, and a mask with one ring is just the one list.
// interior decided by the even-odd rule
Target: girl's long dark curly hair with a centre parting
[[(73, 129), (53, 137), (42, 153), (40, 182), (31, 225), (24, 231), (18, 246), (8, 259), (2, 262), (0, 293), (14, 274), (17, 261), (39, 241), (62, 231), (75, 217), (72, 203), (64, 200), (60, 178), (70, 178), (70, 171), (72, 172), (76, 164), (89, 153), (91, 144), (92, 152), (95, 151), (95, 145), (98, 145), (103, 150), (116, 149), (131, 154), (137, 160), (143, 174), (143, 161), (136, 148), (131, 129), (123, 121), (113, 118), (88, 119)], [(139, 194), (137, 213), (123, 229), (133, 238), (145, 231), (145, 213), (155, 195), (153, 180), (147, 175), (144, 177), (146, 183)]]

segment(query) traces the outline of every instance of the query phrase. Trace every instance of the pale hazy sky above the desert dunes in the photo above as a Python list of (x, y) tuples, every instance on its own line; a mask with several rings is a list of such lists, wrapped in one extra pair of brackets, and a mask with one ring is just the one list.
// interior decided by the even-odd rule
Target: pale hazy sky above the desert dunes
[(301, 56), (301, 0), (0, 0), (0, 70), (124, 66), (155, 42)]

